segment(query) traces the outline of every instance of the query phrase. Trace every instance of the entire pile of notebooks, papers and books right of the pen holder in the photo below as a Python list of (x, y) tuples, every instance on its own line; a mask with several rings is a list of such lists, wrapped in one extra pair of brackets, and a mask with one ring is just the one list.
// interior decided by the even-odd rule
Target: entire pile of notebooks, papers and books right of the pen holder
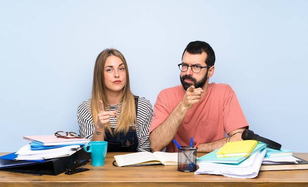
[(195, 174), (255, 178), (259, 171), (280, 170), (282, 165), (294, 165), (306, 161), (294, 157), (291, 150), (278, 151), (266, 146), (267, 144), (256, 140), (228, 142), (220, 149), (199, 157), (197, 159), (199, 169)]

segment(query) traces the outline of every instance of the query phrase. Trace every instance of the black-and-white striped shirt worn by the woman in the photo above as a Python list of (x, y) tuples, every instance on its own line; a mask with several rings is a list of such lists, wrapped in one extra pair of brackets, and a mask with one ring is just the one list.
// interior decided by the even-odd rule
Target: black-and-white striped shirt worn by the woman
[[(110, 111), (117, 110), (119, 104), (108, 106)], [(119, 114), (117, 114), (118, 116)], [(149, 100), (139, 97), (137, 105), (136, 134), (138, 137), (137, 151), (152, 151), (149, 140), (149, 127), (153, 118), (153, 108)], [(77, 110), (77, 121), (79, 123), (79, 134), (87, 139), (91, 139), (94, 132), (94, 123), (91, 114), (91, 99), (82, 102)], [(116, 117), (110, 117), (110, 127), (117, 125)]]

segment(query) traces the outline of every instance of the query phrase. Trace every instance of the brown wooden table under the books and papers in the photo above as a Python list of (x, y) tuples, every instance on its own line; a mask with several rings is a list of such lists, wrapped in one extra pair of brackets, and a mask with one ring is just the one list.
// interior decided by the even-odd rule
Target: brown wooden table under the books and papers
[[(113, 156), (119, 154), (122, 153), (107, 153), (104, 166), (93, 167), (88, 162), (83, 167), (89, 171), (73, 175), (34, 176), (0, 171), (0, 187), (308, 187), (308, 170), (260, 171), (254, 179), (237, 179), (180, 172), (176, 165), (116, 167), (112, 164)], [(294, 156), (308, 160), (308, 153), (295, 153)]]

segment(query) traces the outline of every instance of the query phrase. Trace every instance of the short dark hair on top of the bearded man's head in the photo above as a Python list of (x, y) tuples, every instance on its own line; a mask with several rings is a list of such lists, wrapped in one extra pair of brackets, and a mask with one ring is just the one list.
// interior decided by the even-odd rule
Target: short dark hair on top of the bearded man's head
[[(205, 63), (207, 66), (214, 66), (215, 63), (215, 53), (214, 50), (212, 49), (212, 47), (206, 43), (206, 42), (202, 42), (202, 41), (194, 41), (194, 42), (190, 42), (184, 52), (184, 53), (188, 52), (190, 54), (201, 54), (202, 52), (207, 53), (207, 58), (205, 59)], [(183, 58), (182, 55), (182, 58)]]

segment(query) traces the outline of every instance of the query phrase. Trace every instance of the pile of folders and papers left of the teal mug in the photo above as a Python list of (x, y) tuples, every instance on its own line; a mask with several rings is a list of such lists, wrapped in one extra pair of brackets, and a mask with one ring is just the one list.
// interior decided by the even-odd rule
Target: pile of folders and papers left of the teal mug
[(24, 136), (31, 142), (15, 153), (0, 156), (0, 170), (33, 175), (58, 175), (86, 164), (90, 154), (82, 147), (90, 140), (55, 135)]

